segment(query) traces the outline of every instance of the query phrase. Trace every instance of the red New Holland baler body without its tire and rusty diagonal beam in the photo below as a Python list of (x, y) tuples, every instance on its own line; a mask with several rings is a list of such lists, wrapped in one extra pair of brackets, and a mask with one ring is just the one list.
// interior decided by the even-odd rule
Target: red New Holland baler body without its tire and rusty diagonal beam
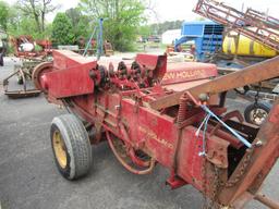
[[(47, 88), (44, 93), (50, 101), (62, 102), (92, 124), (95, 128), (93, 144), (101, 142), (105, 135), (120, 163), (133, 173), (149, 173), (157, 162), (170, 170), (167, 183), (172, 188), (191, 184), (219, 204), (235, 206), (247, 192), (256, 194), (278, 158), (278, 102), (259, 130), (243, 124), (238, 111), (225, 114), (227, 110), (221, 104), (223, 102), (218, 104), (216, 94), (209, 94), (207, 101), (197, 97), (207, 84), (213, 83), (211, 90), (216, 93), (218, 82), (225, 85), (239, 74), (230, 74), (225, 82), (222, 78), (208, 82), (217, 74), (211, 64), (167, 65), (166, 57), (155, 56), (137, 56), (136, 62), (118, 65), (112, 62), (99, 65), (68, 51), (54, 51), (53, 58), (52, 70), (37, 72), (39, 76), (35, 83)], [(250, 71), (255, 73), (255, 70)], [(195, 89), (198, 95), (192, 94)], [(159, 110), (150, 108), (155, 101), (171, 98), (178, 91), (182, 93), (179, 103)], [(252, 143), (253, 148), (246, 149), (235, 136), (210, 119), (205, 133), (207, 155), (201, 156), (204, 128), (197, 131), (206, 116), (199, 108), (202, 102)], [(141, 159), (138, 151), (149, 160)], [(215, 190), (216, 179), (220, 183), (218, 190)]]

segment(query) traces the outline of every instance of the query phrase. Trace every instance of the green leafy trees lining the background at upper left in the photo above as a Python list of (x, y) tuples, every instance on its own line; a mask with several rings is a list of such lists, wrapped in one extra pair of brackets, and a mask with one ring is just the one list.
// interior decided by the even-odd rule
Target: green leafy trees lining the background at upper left
[(10, 36), (31, 35), (50, 39), (54, 45), (76, 45), (88, 39), (97, 20), (102, 17), (104, 38), (119, 51), (132, 50), (137, 36), (159, 35), (180, 28), (182, 21), (147, 25), (147, 0), (80, 0), (76, 8), (58, 12), (48, 23), (46, 16), (57, 12), (52, 0), (17, 0), (9, 5), (0, 0), (0, 27)]

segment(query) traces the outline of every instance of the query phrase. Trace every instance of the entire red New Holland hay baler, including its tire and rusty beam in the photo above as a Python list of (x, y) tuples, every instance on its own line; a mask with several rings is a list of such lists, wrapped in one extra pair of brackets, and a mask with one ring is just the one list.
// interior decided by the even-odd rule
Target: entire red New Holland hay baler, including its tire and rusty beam
[(49, 102), (69, 110), (50, 131), (59, 171), (68, 180), (85, 175), (90, 145), (108, 142), (130, 172), (166, 167), (171, 188), (191, 184), (211, 206), (242, 208), (256, 198), (278, 208), (258, 192), (279, 157), (279, 103), (260, 128), (225, 103), (228, 90), (279, 76), (279, 58), (216, 76), (213, 64), (167, 64), (166, 56), (97, 62), (53, 51), (33, 79)]

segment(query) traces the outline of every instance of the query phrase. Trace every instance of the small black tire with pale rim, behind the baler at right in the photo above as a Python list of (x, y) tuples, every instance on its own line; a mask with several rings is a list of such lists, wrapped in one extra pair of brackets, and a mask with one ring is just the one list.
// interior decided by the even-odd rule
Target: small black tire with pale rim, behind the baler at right
[(262, 123), (255, 123), (255, 122), (253, 121), (253, 119), (251, 118), (252, 111), (254, 111), (255, 109), (262, 109), (262, 110), (264, 110), (264, 111), (266, 112), (266, 115), (268, 115), (268, 113), (269, 113), (269, 111), (271, 110), (271, 108), (272, 108), (272, 104), (269, 103), (269, 102), (267, 102), (267, 101), (259, 101), (259, 102), (257, 102), (257, 106), (255, 106), (255, 103), (253, 102), (253, 103), (248, 104), (248, 106), (245, 108), (245, 110), (244, 110), (244, 118), (245, 118), (245, 121), (246, 121), (247, 123), (252, 123), (252, 124), (254, 124), (254, 125), (258, 125), (258, 126), (259, 126), (259, 125), (263, 124), (264, 120), (263, 120)]

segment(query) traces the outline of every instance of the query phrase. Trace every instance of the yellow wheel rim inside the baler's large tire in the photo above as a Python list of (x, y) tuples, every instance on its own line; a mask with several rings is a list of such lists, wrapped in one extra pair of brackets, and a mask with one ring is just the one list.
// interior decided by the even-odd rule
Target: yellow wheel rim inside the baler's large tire
[(65, 152), (65, 144), (60, 132), (56, 131), (53, 133), (52, 144), (53, 144), (56, 159), (59, 165), (62, 169), (64, 169), (66, 167), (66, 152)]

